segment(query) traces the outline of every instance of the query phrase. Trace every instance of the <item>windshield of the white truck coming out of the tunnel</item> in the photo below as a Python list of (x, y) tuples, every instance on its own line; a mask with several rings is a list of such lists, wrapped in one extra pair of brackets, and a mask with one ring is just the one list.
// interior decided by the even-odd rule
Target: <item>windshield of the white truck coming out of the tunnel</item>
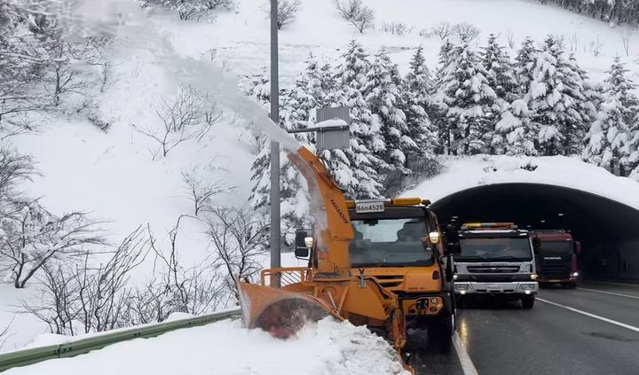
[(455, 261), (509, 262), (532, 261), (533, 251), (528, 238), (462, 238), (461, 254)]

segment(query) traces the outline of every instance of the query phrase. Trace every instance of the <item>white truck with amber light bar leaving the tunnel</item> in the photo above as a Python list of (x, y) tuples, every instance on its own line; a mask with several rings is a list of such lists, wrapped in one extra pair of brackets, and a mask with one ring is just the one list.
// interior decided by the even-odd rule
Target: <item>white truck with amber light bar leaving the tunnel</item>
[(492, 296), (520, 300), (532, 309), (539, 292), (533, 237), (514, 223), (466, 223), (454, 256), (454, 289), (459, 300)]

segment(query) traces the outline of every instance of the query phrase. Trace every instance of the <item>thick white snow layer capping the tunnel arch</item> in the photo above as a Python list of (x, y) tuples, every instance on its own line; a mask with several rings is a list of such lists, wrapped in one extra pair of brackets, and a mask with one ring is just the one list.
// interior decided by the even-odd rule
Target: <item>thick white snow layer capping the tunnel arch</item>
[(564, 156), (540, 158), (477, 155), (446, 158), (444, 171), (403, 196), (436, 201), (457, 191), (489, 184), (549, 184), (586, 191), (639, 209), (639, 184), (604, 168)]

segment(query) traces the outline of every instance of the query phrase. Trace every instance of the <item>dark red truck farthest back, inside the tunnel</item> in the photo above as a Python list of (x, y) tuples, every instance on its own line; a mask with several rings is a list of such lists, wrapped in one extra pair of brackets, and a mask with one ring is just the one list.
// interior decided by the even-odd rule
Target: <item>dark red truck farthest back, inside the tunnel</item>
[(580, 242), (575, 241), (568, 230), (535, 230), (533, 236), (540, 239), (537, 254), (537, 282), (540, 286), (576, 287)]

